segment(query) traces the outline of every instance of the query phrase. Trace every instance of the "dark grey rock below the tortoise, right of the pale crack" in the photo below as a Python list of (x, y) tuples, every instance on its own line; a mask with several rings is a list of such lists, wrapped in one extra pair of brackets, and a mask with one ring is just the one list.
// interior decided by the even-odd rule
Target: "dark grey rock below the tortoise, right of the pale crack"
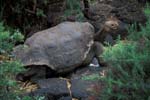
[(74, 98), (81, 100), (90, 100), (91, 97), (95, 97), (92, 100), (98, 100), (98, 94), (101, 92), (102, 85), (98, 81), (89, 81), (89, 80), (71, 80), (71, 92)]

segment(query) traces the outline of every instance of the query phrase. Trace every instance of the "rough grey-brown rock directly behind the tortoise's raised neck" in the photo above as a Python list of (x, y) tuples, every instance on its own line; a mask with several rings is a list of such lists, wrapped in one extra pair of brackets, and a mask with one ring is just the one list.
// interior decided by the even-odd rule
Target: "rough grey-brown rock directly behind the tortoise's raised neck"
[(110, 16), (110, 12), (112, 11), (113, 7), (107, 4), (93, 4), (90, 5), (87, 20), (90, 22), (96, 31), (100, 30), (107, 18)]

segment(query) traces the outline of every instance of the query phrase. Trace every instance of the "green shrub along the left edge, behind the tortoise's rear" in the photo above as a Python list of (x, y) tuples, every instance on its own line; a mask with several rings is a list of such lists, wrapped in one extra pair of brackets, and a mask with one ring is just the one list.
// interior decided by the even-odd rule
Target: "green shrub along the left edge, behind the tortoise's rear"
[(23, 36), (15, 31), (6, 31), (0, 22), (0, 99), (15, 100), (17, 84), (14, 76), (22, 71), (22, 65), (13, 60), (11, 51), (16, 42), (22, 41)]

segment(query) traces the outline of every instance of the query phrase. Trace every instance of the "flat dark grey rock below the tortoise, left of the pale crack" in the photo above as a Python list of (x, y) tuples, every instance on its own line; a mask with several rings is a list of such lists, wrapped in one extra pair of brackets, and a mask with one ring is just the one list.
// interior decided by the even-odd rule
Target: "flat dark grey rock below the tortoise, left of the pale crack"
[(42, 79), (36, 82), (38, 89), (28, 93), (29, 96), (42, 95), (48, 100), (71, 100), (67, 81), (59, 78)]

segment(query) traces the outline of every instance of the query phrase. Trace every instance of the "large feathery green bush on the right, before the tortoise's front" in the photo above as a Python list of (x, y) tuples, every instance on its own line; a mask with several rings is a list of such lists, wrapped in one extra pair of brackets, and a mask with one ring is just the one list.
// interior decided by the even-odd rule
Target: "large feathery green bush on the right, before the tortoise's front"
[(111, 68), (102, 79), (106, 83), (102, 100), (150, 100), (150, 8), (146, 12), (148, 21), (141, 31), (132, 25), (127, 40), (103, 53)]

